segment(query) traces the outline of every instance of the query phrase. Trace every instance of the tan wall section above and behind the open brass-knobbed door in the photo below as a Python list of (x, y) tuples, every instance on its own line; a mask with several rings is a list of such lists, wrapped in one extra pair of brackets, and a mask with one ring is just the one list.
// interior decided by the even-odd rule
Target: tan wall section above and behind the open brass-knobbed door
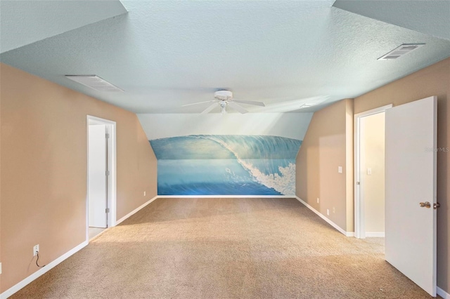
[[(437, 147), (450, 147), (450, 58), (361, 95), (354, 113), (437, 95)], [(450, 152), (437, 153), (437, 286), (450, 293)]]

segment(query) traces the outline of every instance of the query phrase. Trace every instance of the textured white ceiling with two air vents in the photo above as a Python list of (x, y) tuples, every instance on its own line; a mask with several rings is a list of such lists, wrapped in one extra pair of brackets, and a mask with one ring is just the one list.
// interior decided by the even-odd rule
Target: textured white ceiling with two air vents
[[(380, 3), (390, 2), (383, 13)], [(181, 105), (212, 100), (220, 88), (266, 103), (245, 105), (250, 112), (311, 112), (450, 56), (450, 1), (335, 3), (348, 11), (318, 0), (122, 4), (2, 0), (0, 60), (132, 112), (201, 112), (208, 103)], [(377, 60), (411, 43), (426, 45)], [(124, 92), (94, 91), (65, 74), (96, 74)], [(321, 104), (298, 110), (305, 102)]]

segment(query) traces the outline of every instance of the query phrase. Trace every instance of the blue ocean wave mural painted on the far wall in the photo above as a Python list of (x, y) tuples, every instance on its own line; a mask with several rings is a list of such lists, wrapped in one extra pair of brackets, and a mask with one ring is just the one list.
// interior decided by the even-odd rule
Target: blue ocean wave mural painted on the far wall
[(294, 195), (301, 140), (188, 135), (150, 140), (160, 195)]

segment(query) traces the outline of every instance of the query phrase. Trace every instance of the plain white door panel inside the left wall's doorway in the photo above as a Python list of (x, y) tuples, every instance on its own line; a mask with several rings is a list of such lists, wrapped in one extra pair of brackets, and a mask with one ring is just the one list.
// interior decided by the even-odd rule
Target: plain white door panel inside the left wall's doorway
[(88, 201), (89, 227), (106, 227), (107, 194), (107, 148), (106, 126), (89, 125), (88, 139)]

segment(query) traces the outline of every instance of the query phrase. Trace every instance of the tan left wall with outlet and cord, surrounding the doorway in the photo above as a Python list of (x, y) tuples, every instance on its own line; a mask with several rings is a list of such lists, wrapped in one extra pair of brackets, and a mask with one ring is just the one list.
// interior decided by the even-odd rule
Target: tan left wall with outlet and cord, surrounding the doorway
[[(86, 239), (86, 114), (117, 122), (117, 219), (157, 194), (136, 114), (1, 64), (0, 292)], [(143, 197), (143, 191), (147, 196)]]

